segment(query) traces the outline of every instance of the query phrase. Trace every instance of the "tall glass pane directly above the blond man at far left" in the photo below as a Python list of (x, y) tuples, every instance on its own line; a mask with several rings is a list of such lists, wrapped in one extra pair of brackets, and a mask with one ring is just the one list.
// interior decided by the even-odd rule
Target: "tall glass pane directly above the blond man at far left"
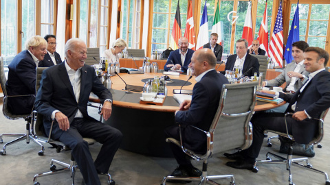
[[(24, 33), (24, 37), (22, 38), (22, 46), (25, 46), (26, 40), (36, 34), (34, 10), (34, 0), (22, 1), (22, 32)], [(24, 47), (22, 47), (22, 49), (23, 48)]]

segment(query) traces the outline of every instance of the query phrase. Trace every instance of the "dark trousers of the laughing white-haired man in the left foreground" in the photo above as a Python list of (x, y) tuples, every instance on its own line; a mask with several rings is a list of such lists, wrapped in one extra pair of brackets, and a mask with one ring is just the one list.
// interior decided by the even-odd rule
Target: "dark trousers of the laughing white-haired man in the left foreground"
[[(98, 172), (107, 173), (110, 164), (122, 141), (122, 133), (104, 123), (86, 119), (74, 119), (69, 130), (62, 132), (60, 140), (72, 149), (72, 155), (76, 160), (85, 183), (90, 185), (100, 184)], [(54, 133), (58, 135), (58, 133)], [(84, 138), (94, 138), (103, 144), (95, 162), (89, 152), (88, 143)]]

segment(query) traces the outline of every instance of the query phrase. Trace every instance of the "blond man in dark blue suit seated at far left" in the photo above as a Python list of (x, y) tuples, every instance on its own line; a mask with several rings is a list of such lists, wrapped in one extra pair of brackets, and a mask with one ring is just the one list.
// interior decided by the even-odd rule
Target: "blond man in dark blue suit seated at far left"
[(8, 107), (14, 114), (30, 114), (32, 112), (34, 95), (36, 95), (36, 66), (47, 53), (46, 48), (45, 39), (41, 36), (32, 36), (26, 42), (25, 50), (15, 56), (8, 65), (8, 80), (5, 84), (8, 95), (33, 95), (10, 97)]

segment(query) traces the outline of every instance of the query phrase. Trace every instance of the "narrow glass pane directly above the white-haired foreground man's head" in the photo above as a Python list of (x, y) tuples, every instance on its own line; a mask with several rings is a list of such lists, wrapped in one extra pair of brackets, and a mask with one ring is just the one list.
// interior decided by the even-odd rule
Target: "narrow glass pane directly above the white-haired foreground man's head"
[(87, 0), (80, 0), (79, 38), (87, 43)]

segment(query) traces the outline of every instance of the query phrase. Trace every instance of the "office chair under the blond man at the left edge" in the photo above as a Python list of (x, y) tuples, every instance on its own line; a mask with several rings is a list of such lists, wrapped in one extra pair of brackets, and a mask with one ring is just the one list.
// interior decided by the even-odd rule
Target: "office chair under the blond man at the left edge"
[[(0, 57), (0, 84), (1, 84), (1, 88), (3, 91), (3, 106), (2, 106), (2, 112), (3, 115), (10, 120), (17, 120), (17, 119), (25, 119), (26, 121), (26, 130), (25, 130), (25, 134), (0, 134), (0, 143), (3, 143), (3, 136), (9, 136), (9, 137), (19, 137), (16, 138), (8, 143), (5, 143), (5, 145), (3, 145), (3, 149), (0, 151), (0, 155), (1, 156), (5, 156), (5, 154), (7, 153), (5, 151), (5, 148), (8, 145), (12, 145), (14, 143), (17, 143), (21, 140), (26, 140), (26, 143), (30, 143), (30, 140), (32, 140), (34, 143), (38, 144), (39, 146), (41, 146), (41, 151), (38, 152), (39, 156), (43, 156), (44, 153), (44, 147), (43, 145), (41, 145), (41, 143), (39, 143), (34, 136), (31, 134), (30, 129), (31, 129), (31, 114), (25, 114), (25, 115), (17, 115), (17, 114), (13, 114), (10, 109), (8, 108), (8, 98), (15, 98), (15, 97), (31, 97), (34, 95), (16, 95), (16, 96), (8, 96), (7, 94), (7, 90), (5, 89), (5, 82), (7, 82), (7, 79), (5, 77), (5, 73), (3, 71), (3, 58)], [(19, 106), (19, 105), (17, 105)], [(31, 110), (32, 113), (32, 110)]]

